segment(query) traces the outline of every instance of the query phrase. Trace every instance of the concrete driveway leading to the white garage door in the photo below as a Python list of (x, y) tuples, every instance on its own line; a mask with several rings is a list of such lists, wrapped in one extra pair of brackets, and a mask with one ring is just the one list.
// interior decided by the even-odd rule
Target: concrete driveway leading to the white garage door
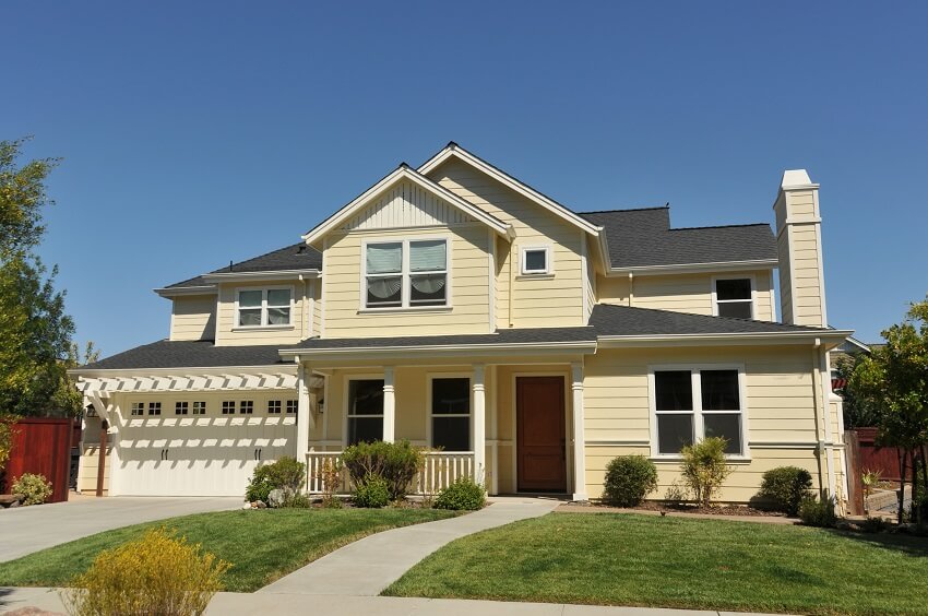
[(0, 562), (69, 541), (175, 516), (238, 509), (224, 498), (86, 497), (68, 502), (0, 510)]

